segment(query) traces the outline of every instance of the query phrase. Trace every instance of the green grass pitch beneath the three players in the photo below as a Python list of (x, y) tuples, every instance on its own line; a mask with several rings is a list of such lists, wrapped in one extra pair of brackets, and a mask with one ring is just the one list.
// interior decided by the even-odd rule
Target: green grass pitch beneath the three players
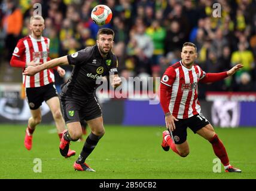
[[(77, 155), (65, 159), (52, 125), (38, 125), (33, 147), (23, 146), (25, 126), (0, 125), (0, 178), (256, 178), (256, 128), (216, 128), (231, 164), (242, 173), (214, 173), (216, 156), (211, 144), (188, 130), (190, 155), (186, 158), (161, 149), (160, 127), (105, 125), (106, 134), (87, 159), (96, 172), (74, 171), (72, 165), (83, 143), (72, 143)], [(54, 133), (55, 132), (55, 133)], [(42, 161), (42, 172), (34, 172), (33, 160)]]

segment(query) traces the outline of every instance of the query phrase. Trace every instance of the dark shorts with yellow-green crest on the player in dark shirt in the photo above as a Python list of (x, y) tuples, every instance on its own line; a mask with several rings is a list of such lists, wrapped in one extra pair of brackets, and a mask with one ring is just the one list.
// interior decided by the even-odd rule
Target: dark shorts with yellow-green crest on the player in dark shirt
[(60, 101), (62, 103), (63, 116), (66, 124), (83, 119), (89, 121), (102, 116), (99, 103), (97, 103), (96, 97), (94, 96), (83, 103), (67, 97), (62, 97)]

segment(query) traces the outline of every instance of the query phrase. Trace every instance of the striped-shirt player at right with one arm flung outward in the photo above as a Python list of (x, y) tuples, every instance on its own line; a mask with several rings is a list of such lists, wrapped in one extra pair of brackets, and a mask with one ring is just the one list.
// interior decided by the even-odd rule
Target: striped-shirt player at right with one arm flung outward
[(215, 82), (233, 75), (243, 67), (237, 64), (227, 72), (205, 73), (194, 64), (197, 58), (197, 48), (191, 42), (185, 42), (181, 52), (182, 60), (168, 67), (161, 78), (160, 103), (166, 122), (161, 146), (165, 151), (171, 148), (173, 152), (185, 157), (189, 153), (187, 143), (187, 127), (194, 133), (208, 140), (214, 153), (220, 158), (226, 172), (241, 172), (230, 165), (225, 147), (215, 133), (209, 121), (202, 115), (197, 94), (198, 82)]

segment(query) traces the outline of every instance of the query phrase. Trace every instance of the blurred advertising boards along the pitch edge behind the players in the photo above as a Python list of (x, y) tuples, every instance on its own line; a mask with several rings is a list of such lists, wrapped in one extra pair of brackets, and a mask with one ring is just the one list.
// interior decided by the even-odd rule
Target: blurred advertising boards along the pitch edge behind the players
[[(97, 91), (105, 124), (164, 126), (156, 91)], [(207, 92), (200, 100), (202, 113), (218, 127), (256, 127), (256, 93)], [(47, 106), (42, 123), (54, 124)], [(31, 116), (22, 84), (0, 84), (0, 123), (26, 124)]]

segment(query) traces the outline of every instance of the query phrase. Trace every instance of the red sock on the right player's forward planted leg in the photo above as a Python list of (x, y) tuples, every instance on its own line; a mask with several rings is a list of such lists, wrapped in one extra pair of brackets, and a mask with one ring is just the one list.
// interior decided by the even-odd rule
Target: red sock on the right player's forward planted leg
[(209, 140), (209, 142), (212, 144), (212, 148), (214, 149), (214, 153), (218, 158), (221, 159), (221, 163), (224, 166), (229, 165), (229, 159), (227, 156), (227, 152), (225, 150), (225, 147), (223, 145), (223, 142), (220, 140), (217, 134), (214, 135), (214, 137)]

